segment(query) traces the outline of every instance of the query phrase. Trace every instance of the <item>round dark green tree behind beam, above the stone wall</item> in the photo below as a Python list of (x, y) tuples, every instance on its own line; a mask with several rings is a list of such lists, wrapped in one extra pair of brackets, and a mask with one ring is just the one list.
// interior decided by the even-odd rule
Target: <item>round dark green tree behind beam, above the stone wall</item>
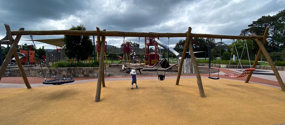
[[(86, 30), (86, 27), (83, 24), (79, 26), (72, 25), (69, 30)], [(76, 58), (77, 61), (86, 60), (93, 54), (94, 46), (90, 36), (64, 35), (62, 41), (65, 43), (63, 52), (70, 59)]]

